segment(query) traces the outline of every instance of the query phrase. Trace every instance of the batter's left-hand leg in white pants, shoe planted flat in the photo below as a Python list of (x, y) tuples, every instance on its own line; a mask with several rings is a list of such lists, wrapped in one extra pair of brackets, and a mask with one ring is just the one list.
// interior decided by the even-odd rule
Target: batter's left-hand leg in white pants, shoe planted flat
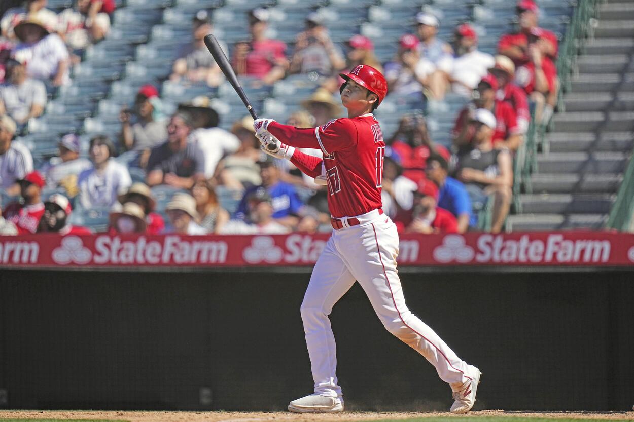
[(337, 347), (328, 315), (333, 305), (353, 286), (354, 280), (331, 237), (313, 268), (301, 307), (315, 395), (294, 400), (288, 406), (290, 411), (343, 410), (341, 387), (337, 384), (336, 375)]

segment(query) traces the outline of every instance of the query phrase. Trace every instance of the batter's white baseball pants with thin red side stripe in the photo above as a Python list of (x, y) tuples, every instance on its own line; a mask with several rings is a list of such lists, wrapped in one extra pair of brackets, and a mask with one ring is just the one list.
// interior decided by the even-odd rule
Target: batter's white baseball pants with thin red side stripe
[(333, 231), (317, 260), (301, 307), (316, 393), (342, 400), (328, 315), (355, 280), (385, 329), (422, 354), (452, 390), (470, 380), (467, 362), (407, 308), (396, 271), (398, 243), (394, 223), (379, 215), (367, 224)]

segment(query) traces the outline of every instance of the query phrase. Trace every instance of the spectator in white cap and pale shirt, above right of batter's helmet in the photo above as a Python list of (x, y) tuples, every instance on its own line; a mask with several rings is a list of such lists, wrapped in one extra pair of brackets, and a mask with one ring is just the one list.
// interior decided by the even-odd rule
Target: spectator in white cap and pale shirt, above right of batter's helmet
[(446, 87), (446, 74), (451, 72), (453, 49), (448, 42), (437, 37), (440, 22), (431, 13), (420, 12), (416, 15), (417, 34), (420, 39), (417, 49), (424, 67), (418, 77), (424, 86), (429, 87), (433, 98), (443, 98)]

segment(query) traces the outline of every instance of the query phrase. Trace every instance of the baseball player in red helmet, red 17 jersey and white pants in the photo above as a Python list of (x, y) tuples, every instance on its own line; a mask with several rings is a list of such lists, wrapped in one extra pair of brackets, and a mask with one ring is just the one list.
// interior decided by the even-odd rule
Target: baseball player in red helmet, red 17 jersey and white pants
[[(335, 338), (330, 328), (332, 307), (359, 281), (385, 328), (415, 348), (449, 383), (453, 413), (468, 412), (475, 402), (480, 371), (462, 361), (405, 304), (396, 271), (399, 239), (396, 226), (381, 209), (381, 177), (385, 143), (372, 115), (387, 93), (378, 70), (359, 65), (340, 87), (348, 118), (313, 129), (298, 129), (270, 118), (254, 122), (262, 150), (294, 163), (309, 176), (328, 184), (332, 236), (314, 266), (301, 306), (306, 345), (311, 359), (314, 394), (293, 400), (292, 412), (341, 412), (341, 387), (335, 369)], [(269, 144), (275, 144), (273, 151)], [(295, 148), (320, 149), (323, 159)]]

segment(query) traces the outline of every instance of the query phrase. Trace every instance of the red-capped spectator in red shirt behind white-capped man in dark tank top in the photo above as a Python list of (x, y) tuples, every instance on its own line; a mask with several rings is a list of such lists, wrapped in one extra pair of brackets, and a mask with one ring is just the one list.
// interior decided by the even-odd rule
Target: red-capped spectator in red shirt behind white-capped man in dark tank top
[(517, 124), (517, 116), (513, 108), (505, 101), (496, 99), (498, 81), (491, 74), (486, 75), (477, 86), (477, 96), (473, 103), (462, 109), (456, 124), (453, 127), (453, 143), (458, 148), (470, 144), (474, 137), (474, 127), (469, 122), (474, 120), (474, 112), (478, 108), (484, 108), (493, 113), (497, 126), (493, 134), (494, 148), (508, 148), (516, 151), (522, 143), (524, 136), (522, 128)]

